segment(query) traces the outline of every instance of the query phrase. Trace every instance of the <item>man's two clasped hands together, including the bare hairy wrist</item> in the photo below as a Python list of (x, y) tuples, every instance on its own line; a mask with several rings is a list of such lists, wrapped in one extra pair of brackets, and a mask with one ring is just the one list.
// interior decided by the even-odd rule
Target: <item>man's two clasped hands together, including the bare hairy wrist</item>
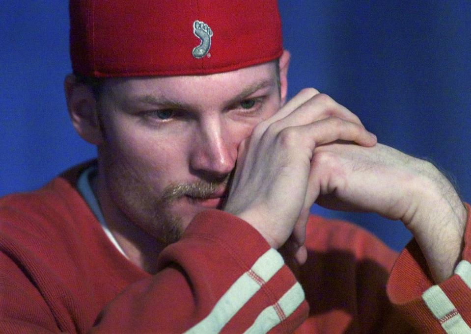
[(449, 277), (460, 257), (467, 213), (448, 180), (431, 163), (377, 144), (356, 115), (310, 88), (241, 143), (224, 210), (273, 248), (289, 243), (302, 264), (314, 202), (401, 220), (435, 281)]

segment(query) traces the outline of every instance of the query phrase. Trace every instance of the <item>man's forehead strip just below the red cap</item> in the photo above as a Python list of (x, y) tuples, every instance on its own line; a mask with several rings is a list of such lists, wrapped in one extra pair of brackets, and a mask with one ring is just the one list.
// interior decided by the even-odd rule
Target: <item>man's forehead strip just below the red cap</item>
[(250, 89), (277, 86), (278, 63), (272, 61), (236, 71), (202, 76), (106, 79), (104, 93), (116, 102), (142, 95), (181, 99), (231, 99)]

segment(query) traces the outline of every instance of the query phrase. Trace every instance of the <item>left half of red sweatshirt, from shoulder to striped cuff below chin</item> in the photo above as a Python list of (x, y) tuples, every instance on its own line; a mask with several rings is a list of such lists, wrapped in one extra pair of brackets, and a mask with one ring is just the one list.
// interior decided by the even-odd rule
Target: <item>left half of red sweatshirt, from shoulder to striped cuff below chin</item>
[(0, 333), (292, 333), (301, 285), (247, 222), (196, 215), (149, 275), (57, 179), (0, 199)]

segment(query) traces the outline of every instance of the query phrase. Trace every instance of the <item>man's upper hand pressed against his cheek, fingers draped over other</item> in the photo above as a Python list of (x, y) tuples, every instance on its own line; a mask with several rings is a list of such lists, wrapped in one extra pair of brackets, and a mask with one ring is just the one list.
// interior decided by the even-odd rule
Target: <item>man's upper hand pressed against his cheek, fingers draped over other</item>
[[(376, 144), (376, 136), (345, 107), (314, 89), (301, 91), (241, 143), (224, 210), (249, 222), (272, 247), (292, 236), (298, 249), (316, 199), (307, 194), (314, 150), (337, 140)], [(301, 248), (297, 258), (305, 257)]]

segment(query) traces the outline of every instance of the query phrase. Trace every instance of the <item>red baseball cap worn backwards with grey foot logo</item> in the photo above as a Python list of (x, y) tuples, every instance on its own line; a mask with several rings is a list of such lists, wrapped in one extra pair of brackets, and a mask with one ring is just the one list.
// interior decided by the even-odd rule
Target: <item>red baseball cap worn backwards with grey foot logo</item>
[(202, 75), (281, 56), (276, 0), (70, 0), (75, 74)]

